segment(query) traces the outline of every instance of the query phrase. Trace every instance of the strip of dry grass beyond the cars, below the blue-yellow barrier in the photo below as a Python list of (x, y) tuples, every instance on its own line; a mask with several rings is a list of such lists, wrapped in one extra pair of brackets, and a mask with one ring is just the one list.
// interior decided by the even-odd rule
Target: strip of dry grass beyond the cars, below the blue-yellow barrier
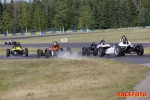
[[(24, 43), (50, 43), (53, 41), (61, 42), (61, 38), (67, 38), (68, 42), (99, 42), (103, 38), (106, 42), (119, 42), (122, 35), (126, 35), (130, 42), (150, 42), (150, 29), (132, 29), (132, 30), (107, 30), (92, 34), (78, 34), (65, 36), (48, 36), (28, 39), (19, 39), (16, 41)], [(71, 34), (71, 33), (70, 33)], [(0, 40), (4, 44), (6, 40)]]

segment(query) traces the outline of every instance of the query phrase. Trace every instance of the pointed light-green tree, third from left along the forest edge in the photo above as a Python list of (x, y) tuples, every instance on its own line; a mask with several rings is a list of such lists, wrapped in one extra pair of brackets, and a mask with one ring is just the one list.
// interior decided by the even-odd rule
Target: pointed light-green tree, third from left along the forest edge
[(44, 10), (37, 4), (33, 15), (33, 28), (40, 31), (44, 30), (47, 27), (46, 25)]

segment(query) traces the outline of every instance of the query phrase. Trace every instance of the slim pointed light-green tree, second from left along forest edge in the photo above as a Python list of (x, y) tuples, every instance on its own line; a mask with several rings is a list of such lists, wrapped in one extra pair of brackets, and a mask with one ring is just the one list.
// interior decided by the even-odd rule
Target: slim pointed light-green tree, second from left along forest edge
[(23, 4), (22, 5), (22, 9), (21, 9), (21, 19), (20, 19), (20, 27), (22, 30), (27, 30), (27, 29), (31, 29), (31, 15), (30, 12), (28, 10), (28, 7)]

